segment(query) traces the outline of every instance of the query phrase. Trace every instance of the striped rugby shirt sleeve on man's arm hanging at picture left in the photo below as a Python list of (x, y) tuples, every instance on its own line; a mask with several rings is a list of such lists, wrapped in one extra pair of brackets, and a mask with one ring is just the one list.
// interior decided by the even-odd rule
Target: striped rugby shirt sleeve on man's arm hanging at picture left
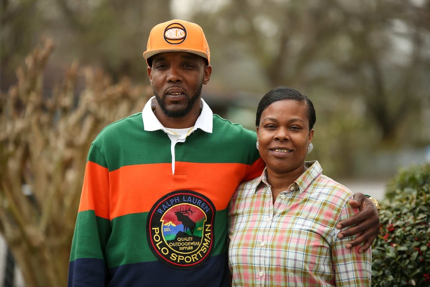
[(105, 247), (111, 233), (109, 171), (93, 144), (88, 153), (70, 253), (68, 287), (106, 286)]

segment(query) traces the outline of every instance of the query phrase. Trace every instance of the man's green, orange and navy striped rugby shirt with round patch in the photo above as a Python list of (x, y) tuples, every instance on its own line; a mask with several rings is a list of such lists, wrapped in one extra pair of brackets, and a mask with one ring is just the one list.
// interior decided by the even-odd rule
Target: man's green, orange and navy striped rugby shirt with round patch
[(145, 131), (142, 113), (99, 133), (86, 163), (69, 287), (228, 286), (228, 202), (264, 164), (255, 132), (210, 113), (212, 133), (199, 128), (176, 144), (174, 174), (171, 140)]

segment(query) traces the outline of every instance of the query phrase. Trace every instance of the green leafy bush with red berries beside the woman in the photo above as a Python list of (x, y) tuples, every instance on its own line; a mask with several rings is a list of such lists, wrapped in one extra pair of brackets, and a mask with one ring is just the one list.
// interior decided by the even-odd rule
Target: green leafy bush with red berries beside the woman
[(430, 286), (430, 164), (399, 172), (381, 202), (372, 286)]

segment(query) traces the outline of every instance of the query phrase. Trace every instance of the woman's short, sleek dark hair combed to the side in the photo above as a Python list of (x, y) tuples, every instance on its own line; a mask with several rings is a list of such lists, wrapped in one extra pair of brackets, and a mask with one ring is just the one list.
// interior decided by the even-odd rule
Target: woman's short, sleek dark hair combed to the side
[(255, 125), (257, 127), (260, 125), (261, 114), (263, 111), (269, 105), (281, 100), (294, 100), (306, 104), (309, 118), (309, 130), (313, 129), (316, 121), (313, 103), (307, 96), (301, 94), (299, 91), (285, 86), (274, 88), (261, 98), (260, 102), (258, 103), (257, 115), (255, 117)]

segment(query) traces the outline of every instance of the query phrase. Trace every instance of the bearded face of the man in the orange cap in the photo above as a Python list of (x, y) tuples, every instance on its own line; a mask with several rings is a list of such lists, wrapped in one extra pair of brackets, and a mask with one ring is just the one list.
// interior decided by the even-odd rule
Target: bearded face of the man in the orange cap
[(211, 69), (201, 56), (165, 52), (152, 56), (148, 75), (163, 113), (179, 118), (200, 109), (202, 87), (208, 83)]

